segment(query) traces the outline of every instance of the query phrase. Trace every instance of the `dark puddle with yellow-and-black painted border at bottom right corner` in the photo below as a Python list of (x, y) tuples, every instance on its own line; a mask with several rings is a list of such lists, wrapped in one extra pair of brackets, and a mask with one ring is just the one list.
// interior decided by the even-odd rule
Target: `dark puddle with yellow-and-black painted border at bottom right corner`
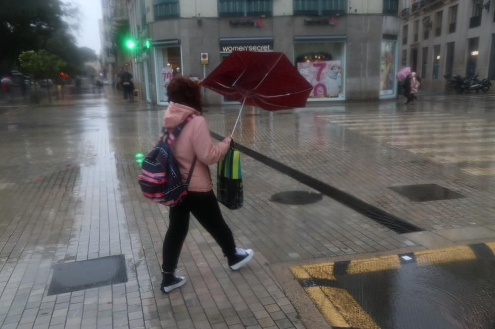
[(291, 269), (335, 327), (489, 329), (494, 249), (478, 244)]

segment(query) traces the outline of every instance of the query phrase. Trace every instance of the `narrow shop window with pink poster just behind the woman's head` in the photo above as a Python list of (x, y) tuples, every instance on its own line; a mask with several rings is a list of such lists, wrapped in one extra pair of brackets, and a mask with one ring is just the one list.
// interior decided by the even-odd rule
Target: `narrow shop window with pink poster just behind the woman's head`
[(167, 85), (182, 74), (182, 51), (179, 39), (153, 41), (156, 103), (168, 105)]

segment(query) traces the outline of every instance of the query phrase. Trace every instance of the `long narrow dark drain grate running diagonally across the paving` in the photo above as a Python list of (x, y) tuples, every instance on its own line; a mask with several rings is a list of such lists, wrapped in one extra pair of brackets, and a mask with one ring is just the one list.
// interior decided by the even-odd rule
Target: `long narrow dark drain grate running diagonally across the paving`
[[(213, 136), (213, 138), (215, 139), (223, 140), (222, 136), (213, 131), (211, 131), (211, 136)], [(268, 158), (267, 156), (262, 155), (261, 153), (258, 153), (244, 145), (236, 143), (236, 147), (239, 151), (243, 152), (247, 156), (291, 177), (294, 180), (297, 180), (299, 183), (311, 187), (312, 189), (326, 195), (329, 198), (334, 199), (335, 201), (345, 206), (348, 206), (352, 210), (368, 217), (369, 219), (385, 226), (386, 228), (398, 234), (424, 231), (418, 226), (408, 223), (405, 220), (400, 219), (385, 210), (372, 206), (348, 194), (347, 192), (341, 191), (331, 185), (328, 185), (325, 182), (322, 182), (321, 180), (306, 175), (305, 173), (291, 168), (286, 164), (282, 164), (281, 162)]]

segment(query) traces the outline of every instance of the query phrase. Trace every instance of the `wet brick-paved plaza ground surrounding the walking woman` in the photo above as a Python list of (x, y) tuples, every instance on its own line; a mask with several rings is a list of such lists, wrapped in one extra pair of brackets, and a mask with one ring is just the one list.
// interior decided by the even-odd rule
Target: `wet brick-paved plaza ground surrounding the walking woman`
[[(252, 247), (255, 256), (241, 271), (230, 271), (213, 239), (192, 221), (179, 264), (188, 283), (162, 294), (168, 210), (142, 197), (136, 156), (154, 145), (164, 108), (117, 96), (107, 90), (52, 105), (0, 108), (1, 328), (321, 328), (328, 321), (314, 326), (307, 318), (325, 312), (311, 301), (300, 307), (290, 293), (303, 289), (289, 270), (294, 263), (495, 240), (494, 95), (425, 96), (408, 107), (386, 101), (277, 113), (247, 108), (235, 135), (245, 150), (245, 204), (222, 211), (237, 244)], [(227, 135), (236, 110), (206, 109), (212, 132)], [(431, 195), (442, 198), (397, 193), (397, 187), (432, 184)], [(311, 200), (285, 194), (290, 191)], [(445, 197), (454, 193), (463, 198)], [(394, 229), (398, 220), (419, 230), (402, 234)], [(120, 254), (126, 283), (49, 294), (57, 266)], [(492, 260), (470, 261), (421, 270), (464, 273), (467, 289), (491, 293), (489, 279), (469, 275), (488, 273)], [(290, 274), (289, 288), (274, 266)], [(394, 273), (405, 278), (413, 272)], [(339, 282), (388, 287), (396, 277), (346, 281), (344, 275)], [(409, 288), (418, 287), (425, 285)], [(377, 326), (399, 328), (394, 324), (405, 321), (387, 322), (387, 314), (403, 310), (375, 311), (367, 305), (384, 300), (357, 289), (349, 293), (365, 302)], [(479, 303), (467, 297), (476, 309), (489, 310), (487, 296)], [(465, 311), (457, 312), (466, 314), (465, 322), (454, 318), (452, 328), (491, 328), (483, 327), (491, 321), (485, 313)], [(462, 327), (475, 321), (479, 327)]]

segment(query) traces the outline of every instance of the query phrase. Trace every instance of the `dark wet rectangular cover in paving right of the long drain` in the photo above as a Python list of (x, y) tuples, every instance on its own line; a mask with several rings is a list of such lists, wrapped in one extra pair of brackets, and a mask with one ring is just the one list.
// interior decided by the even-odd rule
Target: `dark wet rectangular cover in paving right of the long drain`
[(414, 202), (465, 198), (462, 194), (437, 184), (391, 186), (389, 188)]

